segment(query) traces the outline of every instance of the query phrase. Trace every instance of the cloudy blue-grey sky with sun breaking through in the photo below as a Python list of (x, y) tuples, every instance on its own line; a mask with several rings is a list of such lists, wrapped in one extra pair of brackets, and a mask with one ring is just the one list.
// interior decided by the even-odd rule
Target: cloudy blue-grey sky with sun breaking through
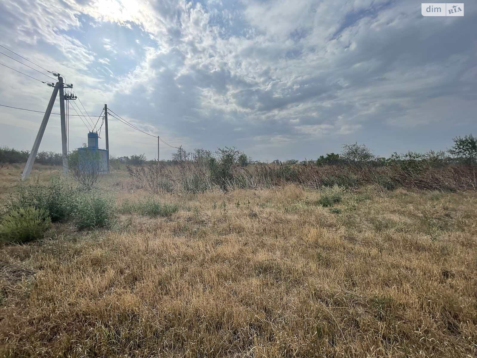
[[(73, 83), (85, 110), (76, 101), (70, 114), (96, 123), (107, 104), (172, 147), (271, 161), (357, 142), (389, 156), (477, 135), (477, 3), (464, 11), (424, 17), (410, 0), (0, 0), (0, 44)], [(0, 75), (1, 105), (45, 111), (51, 87), (4, 66)], [(87, 141), (81, 118), (69, 118), (70, 150)], [(0, 146), (31, 149), (41, 119), (0, 107)], [(157, 158), (155, 137), (112, 117), (108, 127), (111, 155)], [(104, 147), (104, 127), (100, 137)], [(61, 148), (52, 115), (40, 150)]]

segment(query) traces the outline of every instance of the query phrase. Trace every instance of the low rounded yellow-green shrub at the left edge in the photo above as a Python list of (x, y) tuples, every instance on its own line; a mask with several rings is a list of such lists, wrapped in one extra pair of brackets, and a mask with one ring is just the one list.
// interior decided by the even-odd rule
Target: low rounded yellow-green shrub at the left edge
[(23, 243), (41, 239), (50, 227), (47, 211), (33, 207), (12, 210), (0, 224), (0, 240)]

